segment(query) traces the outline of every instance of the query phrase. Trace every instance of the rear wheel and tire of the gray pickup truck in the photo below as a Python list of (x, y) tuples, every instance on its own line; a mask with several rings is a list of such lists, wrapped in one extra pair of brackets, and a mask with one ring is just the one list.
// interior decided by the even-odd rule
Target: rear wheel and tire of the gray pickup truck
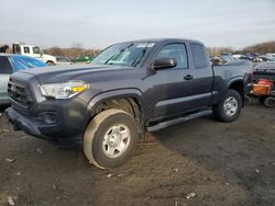
[(226, 98), (213, 106), (213, 116), (216, 119), (230, 123), (237, 119), (242, 108), (242, 99), (239, 92), (229, 90)]

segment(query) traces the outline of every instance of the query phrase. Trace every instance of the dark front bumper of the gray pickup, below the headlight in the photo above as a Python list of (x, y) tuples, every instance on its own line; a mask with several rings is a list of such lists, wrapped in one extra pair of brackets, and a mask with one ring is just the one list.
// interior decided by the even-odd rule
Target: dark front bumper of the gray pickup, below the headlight
[[(77, 101), (76, 101), (77, 102)], [(13, 125), (14, 130), (23, 130), (28, 135), (37, 138), (53, 140), (61, 147), (79, 147), (89, 122), (89, 112), (86, 106), (73, 104), (38, 104), (36, 113), (28, 114), (11, 106), (6, 114)], [(51, 111), (51, 112), (48, 112)], [(45, 118), (50, 115), (53, 119)]]

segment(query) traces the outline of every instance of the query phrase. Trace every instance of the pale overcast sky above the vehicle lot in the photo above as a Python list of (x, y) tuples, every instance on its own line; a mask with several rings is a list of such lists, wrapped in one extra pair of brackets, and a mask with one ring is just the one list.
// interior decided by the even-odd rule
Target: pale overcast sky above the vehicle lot
[(151, 37), (208, 46), (275, 41), (275, 0), (3, 0), (0, 45), (86, 48)]

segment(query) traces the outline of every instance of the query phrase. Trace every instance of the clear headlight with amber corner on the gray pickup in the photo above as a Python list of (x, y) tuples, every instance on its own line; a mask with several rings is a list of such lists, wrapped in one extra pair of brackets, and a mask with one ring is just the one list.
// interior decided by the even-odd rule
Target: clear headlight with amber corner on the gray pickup
[(40, 87), (42, 95), (54, 99), (69, 99), (84, 92), (88, 84), (82, 81), (68, 81), (65, 83), (48, 83)]

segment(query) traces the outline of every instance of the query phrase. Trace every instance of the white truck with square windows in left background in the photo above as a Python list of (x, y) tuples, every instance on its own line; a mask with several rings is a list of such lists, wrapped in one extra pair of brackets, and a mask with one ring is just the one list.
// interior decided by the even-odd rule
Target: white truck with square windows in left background
[(38, 46), (23, 45), (15, 43), (12, 45), (12, 53), (18, 55), (25, 55), (29, 57), (38, 58), (50, 66), (56, 65), (56, 57), (46, 55)]

